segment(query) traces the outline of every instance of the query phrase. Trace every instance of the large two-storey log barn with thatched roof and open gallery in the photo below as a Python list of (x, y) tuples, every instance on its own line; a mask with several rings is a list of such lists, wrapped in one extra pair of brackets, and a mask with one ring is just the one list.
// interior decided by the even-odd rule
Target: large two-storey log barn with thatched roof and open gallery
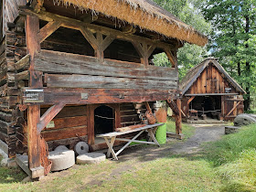
[[(151, 101), (170, 101), (181, 132), (176, 52), (204, 46), (206, 36), (151, 0), (4, 0), (0, 8), (0, 148), (27, 153), (32, 176), (46, 148), (106, 147), (95, 134), (141, 123)], [(161, 52), (172, 68), (149, 62)]]

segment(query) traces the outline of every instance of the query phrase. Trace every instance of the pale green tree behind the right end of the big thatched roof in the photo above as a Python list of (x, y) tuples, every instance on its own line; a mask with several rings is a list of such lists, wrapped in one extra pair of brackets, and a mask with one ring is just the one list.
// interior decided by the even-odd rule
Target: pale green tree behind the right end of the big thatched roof
[[(199, 5), (204, 0), (155, 0), (155, 3), (163, 6), (167, 11), (181, 19), (187, 25), (195, 27), (198, 31), (204, 34), (209, 34), (211, 31), (210, 24), (202, 16)], [(187, 69), (197, 65), (208, 55), (207, 48), (201, 48), (196, 45), (185, 44), (183, 48), (179, 48), (177, 52), (179, 76), (183, 78)], [(155, 56), (155, 65), (170, 66), (165, 54)]]

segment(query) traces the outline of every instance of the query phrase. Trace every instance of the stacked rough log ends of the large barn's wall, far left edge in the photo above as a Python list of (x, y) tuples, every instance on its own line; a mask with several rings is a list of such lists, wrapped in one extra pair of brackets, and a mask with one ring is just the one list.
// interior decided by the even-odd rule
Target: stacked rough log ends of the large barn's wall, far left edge
[[(21, 43), (22, 44), (22, 43)], [(24, 48), (19, 48), (19, 40), (15, 32), (6, 31), (1, 43), (1, 75), (0, 75), (0, 139), (8, 145), (8, 155), (16, 154), (16, 130), (21, 126), (22, 112), (18, 110), (18, 83), (16, 82), (16, 61), (26, 55)]]

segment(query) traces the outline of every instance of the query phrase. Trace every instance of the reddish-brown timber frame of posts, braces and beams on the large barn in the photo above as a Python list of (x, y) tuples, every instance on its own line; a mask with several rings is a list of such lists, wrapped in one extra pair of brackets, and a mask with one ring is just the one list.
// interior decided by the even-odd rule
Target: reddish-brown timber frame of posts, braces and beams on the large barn
[[(38, 7), (36, 5), (36, 7)], [(75, 20), (65, 16), (54, 15), (45, 11), (38, 11), (39, 9), (30, 9), (27, 7), (20, 8), (20, 14), (26, 16), (26, 39), (27, 39), (27, 56), (19, 62), (24, 61), (22, 65), (28, 65), (27, 77), (29, 80), (29, 87), (24, 88), (23, 92), (34, 91), (35, 89), (42, 90), (44, 92), (44, 100), (38, 103), (21, 101), (22, 105), (27, 106), (27, 127), (28, 127), (28, 157), (29, 168), (31, 171), (41, 169), (41, 148), (40, 148), (40, 133), (45, 129), (50, 121), (63, 109), (67, 104), (88, 104), (87, 105), (87, 129), (88, 129), (88, 143), (94, 144), (94, 118), (90, 114), (99, 104), (95, 103), (108, 103), (108, 102), (139, 102), (139, 101), (157, 101), (167, 100), (172, 97), (176, 99), (176, 90), (147, 90), (146, 94), (140, 95), (140, 91), (136, 90), (123, 90), (123, 89), (88, 89), (88, 88), (68, 88), (68, 89), (56, 89), (45, 88), (44, 83), (50, 83), (51, 77), (54, 75), (44, 74), (42, 71), (37, 70), (37, 59), (40, 54), (40, 43), (47, 39), (52, 33), (54, 33), (59, 27), (67, 27), (75, 30), (79, 30), (81, 34), (87, 39), (94, 49), (95, 57), (99, 63), (103, 64), (104, 50), (112, 43), (114, 38), (127, 40), (132, 42), (134, 48), (138, 51), (141, 57), (141, 63), (145, 69), (154, 69), (154, 66), (149, 66), (148, 59), (153, 53), (156, 47), (163, 48), (168, 59), (171, 61), (173, 69), (177, 69), (176, 48), (172, 48), (171, 45), (162, 42), (153, 42), (151, 39), (145, 37), (137, 37), (134, 35), (127, 35), (123, 32), (107, 28), (99, 27), (88, 23), (83, 23), (79, 20)], [(45, 27), (39, 28), (39, 19), (45, 20), (48, 24)], [(96, 32), (96, 37), (93, 33)], [(105, 36), (103, 38), (103, 35)], [(46, 51), (45, 51), (46, 52)], [(49, 54), (53, 54), (50, 52)], [(63, 53), (64, 54), (64, 53)], [(62, 54), (62, 55), (63, 55)], [(81, 56), (80, 56), (81, 57)], [(79, 58), (79, 57), (78, 57)], [(27, 63), (28, 62), (28, 63)], [(117, 62), (117, 61), (115, 61)], [(36, 69), (35, 69), (36, 68)], [(155, 68), (156, 69), (156, 68)], [(17, 76), (18, 78), (19, 76)], [(77, 75), (76, 78), (79, 78)], [(138, 87), (140, 89), (140, 87)], [(155, 94), (157, 92), (157, 94)], [(108, 95), (111, 93), (111, 95)], [(84, 97), (82, 97), (83, 95)], [(94, 96), (93, 96), (94, 95)], [(102, 95), (102, 96), (101, 96)], [(93, 98), (95, 97), (95, 99)], [(23, 95), (26, 98), (26, 95)], [(61, 101), (61, 102), (59, 102)], [(180, 106), (180, 100), (177, 100), (177, 105)], [(40, 114), (40, 105), (52, 105), (47, 112), (43, 115)], [(115, 105), (118, 109), (118, 105)], [(179, 107), (180, 109), (180, 107)], [(118, 116), (119, 110), (115, 110)], [(120, 120), (115, 118), (116, 128), (120, 126)], [(181, 113), (176, 113), (176, 133), (181, 133)], [(36, 171), (36, 173), (38, 173)], [(37, 174), (32, 176), (38, 177)]]

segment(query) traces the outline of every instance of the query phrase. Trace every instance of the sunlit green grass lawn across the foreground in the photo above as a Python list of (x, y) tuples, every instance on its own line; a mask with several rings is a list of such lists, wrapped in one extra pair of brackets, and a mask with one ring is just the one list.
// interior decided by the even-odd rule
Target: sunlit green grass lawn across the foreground
[[(167, 130), (174, 132), (173, 125), (168, 122)], [(193, 132), (183, 127), (186, 136)], [(255, 137), (251, 125), (205, 144), (197, 154), (75, 165), (33, 183), (21, 183), (25, 175), (18, 169), (0, 167), (0, 191), (255, 191)]]

